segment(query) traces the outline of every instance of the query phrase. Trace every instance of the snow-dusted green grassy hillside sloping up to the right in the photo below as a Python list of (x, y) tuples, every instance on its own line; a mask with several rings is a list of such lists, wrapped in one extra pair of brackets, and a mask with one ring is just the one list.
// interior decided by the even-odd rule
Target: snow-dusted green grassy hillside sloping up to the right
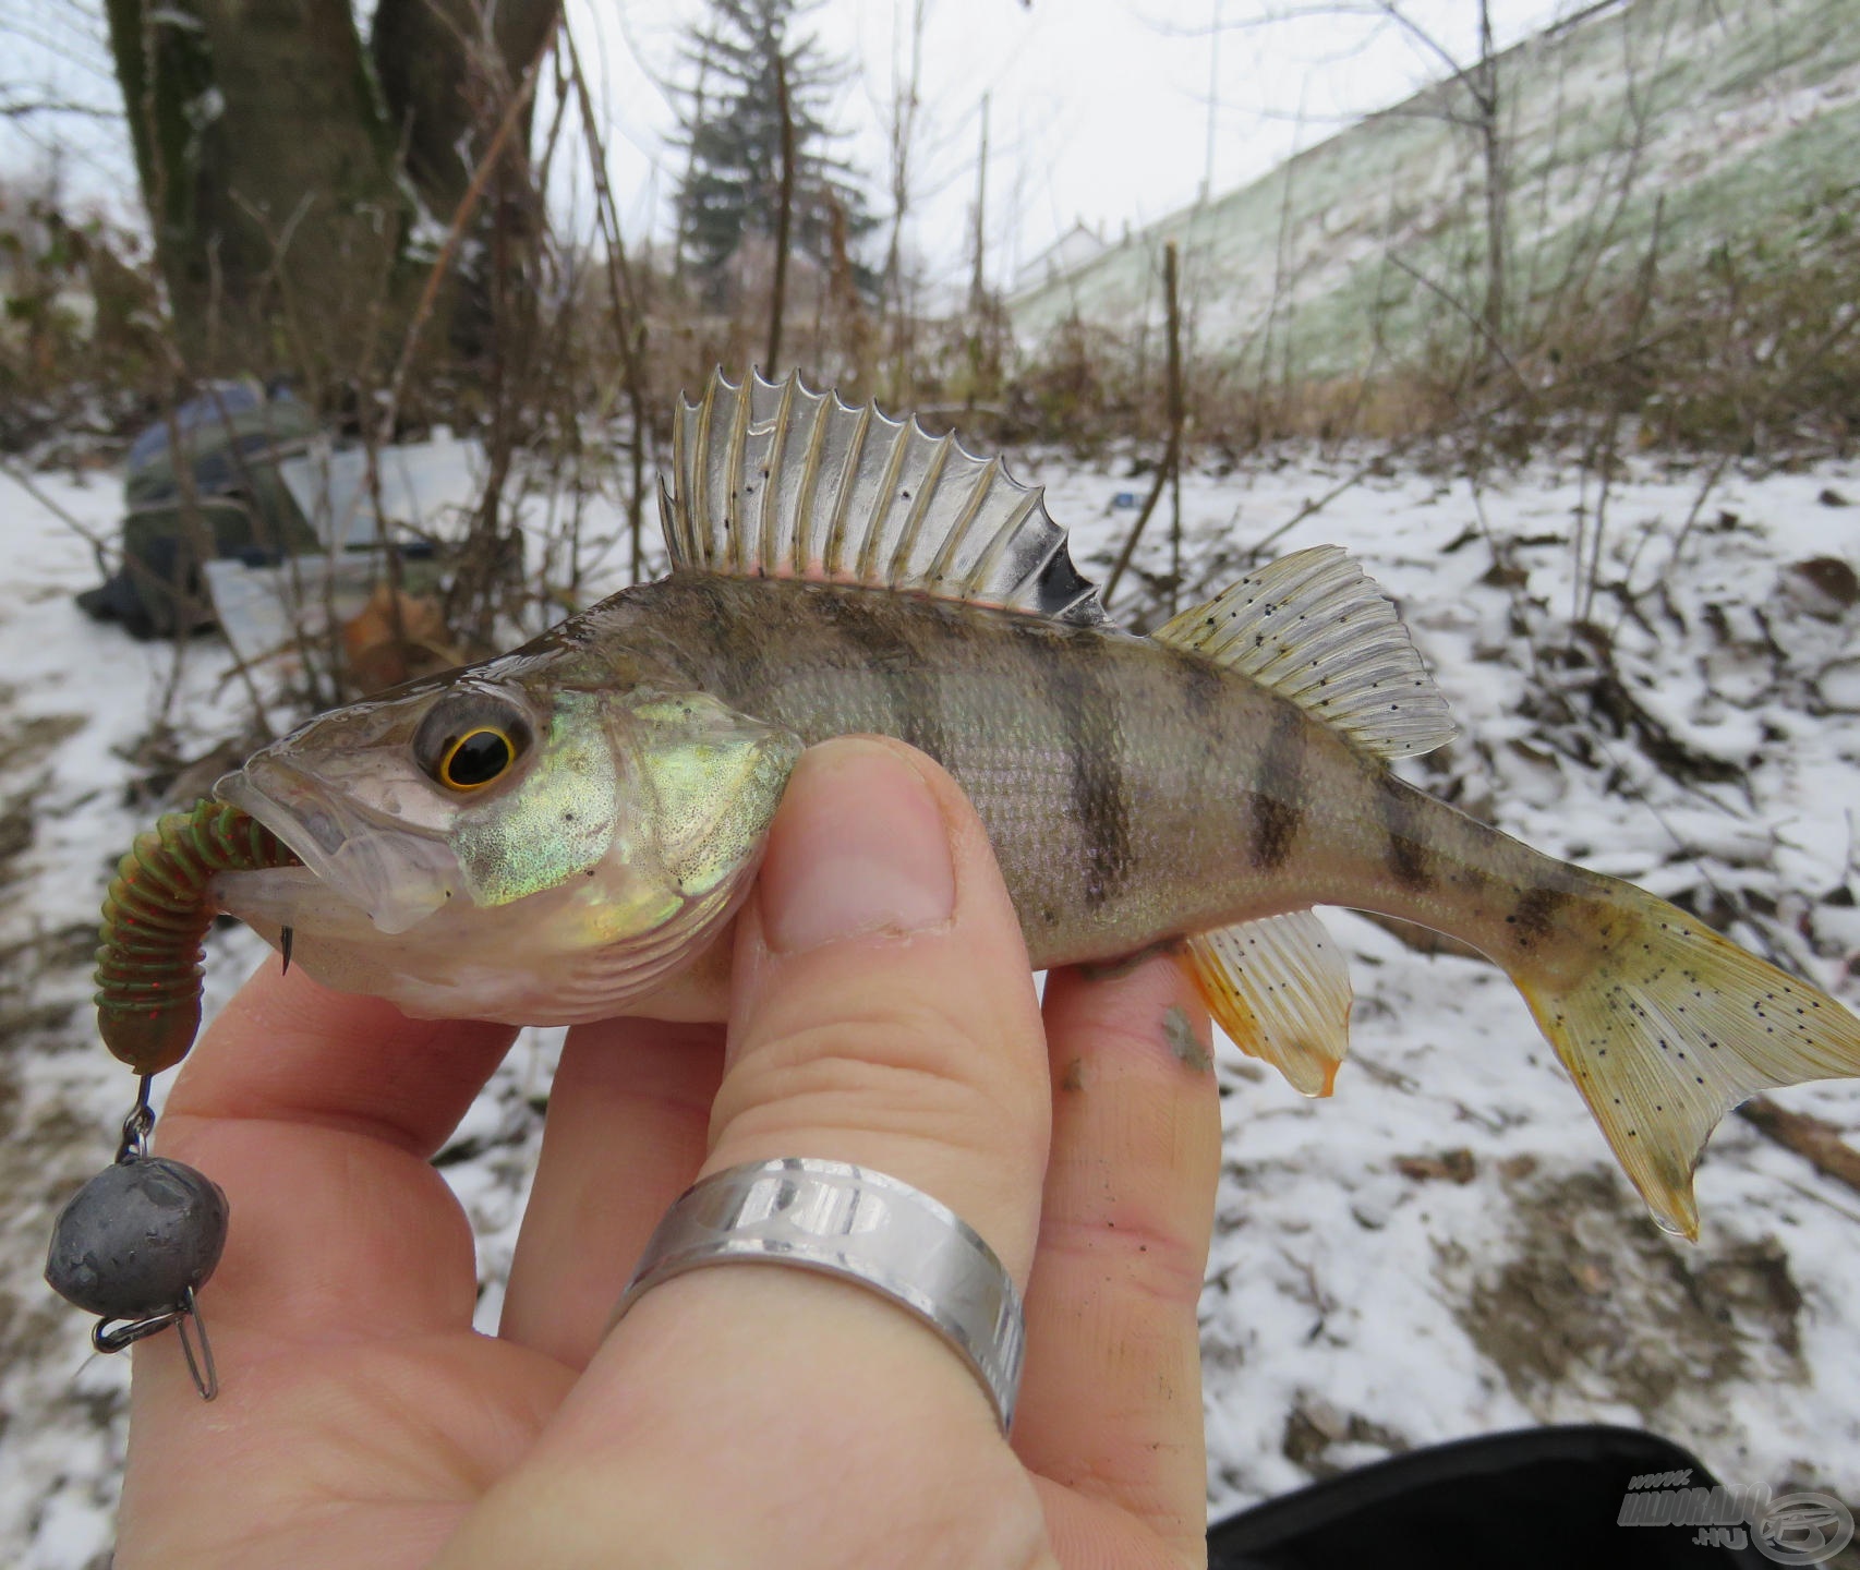
[[(1853, 0), (1601, 4), (1507, 50), (1497, 82), (1514, 329), (1592, 307), (1655, 251), (1668, 277), (1726, 246), (1793, 259), (1860, 203)], [(1428, 87), (1016, 296), (1014, 327), (1146, 331), (1174, 240), (1205, 357), (1298, 379), (1464, 339), (1486, 257), (1469, 110), (1462, 84)]]

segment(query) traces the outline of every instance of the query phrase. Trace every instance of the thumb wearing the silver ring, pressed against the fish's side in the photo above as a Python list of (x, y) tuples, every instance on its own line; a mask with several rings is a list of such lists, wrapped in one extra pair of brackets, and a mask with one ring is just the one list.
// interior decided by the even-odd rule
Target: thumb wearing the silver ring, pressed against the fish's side
[[(895, 742), (804, 755), (733, 975), (705, 1170), (876, 1168), (950, 1205), (1025, 1280), (1045, 1047), (1019, 923), (949, 776)], [(839, 1486), (798, 1497), (796, 1457)], [(642, 1561), (880, 1563), (913, 1542), (937, 1563), (1034, 1563), (1043, 1542), (963, 1360), (863, 1287), (766, 1265), (645, 1293), (441, 1563), (534, 1555), (538, 1522), (562, 1563), (616, 1540)]]

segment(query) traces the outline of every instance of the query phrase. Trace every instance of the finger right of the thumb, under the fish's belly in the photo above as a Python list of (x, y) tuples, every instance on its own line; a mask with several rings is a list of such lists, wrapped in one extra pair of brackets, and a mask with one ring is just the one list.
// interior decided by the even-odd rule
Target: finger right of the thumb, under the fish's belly
[[(1116, 980), (1053, 971), (1045, 1019), (1053, 1155), (1014, 1447), (1192, 1559), (1207, 1525), (1196, 1306), (1220, 1172), (1207, 1012), (1159, 956)], [(1058, 1522), (1055, 1542), (1066, 1557)]]

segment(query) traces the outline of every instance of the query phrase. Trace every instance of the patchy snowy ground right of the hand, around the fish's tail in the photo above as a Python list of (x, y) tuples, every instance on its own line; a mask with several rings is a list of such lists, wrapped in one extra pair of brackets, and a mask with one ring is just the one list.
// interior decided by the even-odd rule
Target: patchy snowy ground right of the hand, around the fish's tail
[[(1263, 536), (1348, 467), (1196, 476), (1185, 558)], [(1611, 627), (1639, 707), (1734, 768), (1724, 783), (1676, 783), (1633, 735), (1531, 714), (1533, 664), (1572, 638), (1575, 525), (1594, 538), (1592, 480), (1553, 465), (1484, 487), (1412, 471), (1367, 478), (1274, 551), (1347, 545), (1404, 606), (1464, 727), (1410, 765), (1414, 778), (1542, 850), (1694, 908), (1713, 887), (1778, 900), (1776, 919), (1747, 915), (1734, 936), (1851, 1003), (1860, 921), (1825, 897), (1853, 893), (1860, 725), (1821, 688), (1827, 670), (1849, 668), (1860, 614), (1810, 614), (1784, 571), (1851, 552), (1851, 525), (1821, 500), (1851, 493), (1847, 476), (1841, 465), (1728, 474), (1704, 515), (1735, 526), (1694, 530), (1676, 562), (1704, 476), (1650, 463), (1613, 487), (1620, 523), (1600, 577), (1637, 595), (1629, 614), (1598, 593), (1590, 614)], [(1118, 484), (1058, 469), (1040, 478), (1060, 519), (1103, 517)], [(1486, 580), (1481, 515), (1521, 582)], [(1138, 558), (1151, 571), (1168, 564), (1162, 523)], [(1112, 526), (1079, 532), (1075, 554), (1101, 567)], [(1579, 683), (1551, 672), (1544, 685)], [(1577, 740), (1592, 766), (1572, 757)], [(1587, 1419), (1654, 1427), (1732, 1483), (1854, 1497), (1860, 1196), (1732, 1118), (1700, 1168), (1700, 1244), (1665, 1239), (1499, 971), (1417, 954), (1362, 917), (1326, 919), (1358, 988), (1335, 1098), (1302, 1101), (1272, 1075), (1224, 1064), (1226, 1170), (1202, 1304), (1211, 1509), (1395, 1447)], [(1776, 1099), (1849, 1137), (1860, 1129), (1853, 1083)], [(1447, 1150), (1471, 1153), (1468, 1183), (1397, 1168)]]

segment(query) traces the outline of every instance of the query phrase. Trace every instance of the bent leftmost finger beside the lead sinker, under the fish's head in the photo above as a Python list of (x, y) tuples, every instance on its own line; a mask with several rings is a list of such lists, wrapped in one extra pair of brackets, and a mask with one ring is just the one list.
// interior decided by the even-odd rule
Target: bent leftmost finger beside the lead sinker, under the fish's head
[[(512, 1029), (407, 1019), (374, 997), (266, 967), (193, 1051), (158, 1144), (219, 1183), (212, 1328), (264, 1341), (469, 1324), (471, 1230), (428, 1159)], [(164, 1337), (166, 1339), (166, 1337)]]

